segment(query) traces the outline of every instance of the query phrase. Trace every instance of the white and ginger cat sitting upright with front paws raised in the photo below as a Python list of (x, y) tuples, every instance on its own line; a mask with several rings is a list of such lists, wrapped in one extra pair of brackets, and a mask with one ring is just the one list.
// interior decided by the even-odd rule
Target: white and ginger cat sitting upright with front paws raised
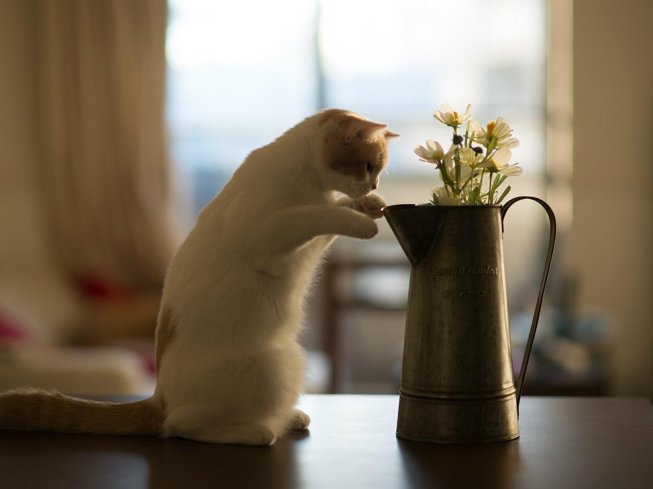
[(325, 110), (247, 156), (170, 263), (151, 398), (114, 404), (16, 389), (0, 394), (0, 428), (245, 445), (307, 428), (295, 409), (304, 297), (334, 237), (377, 233), (385, 202), (370, 192), (397, 136), (386, 127)]

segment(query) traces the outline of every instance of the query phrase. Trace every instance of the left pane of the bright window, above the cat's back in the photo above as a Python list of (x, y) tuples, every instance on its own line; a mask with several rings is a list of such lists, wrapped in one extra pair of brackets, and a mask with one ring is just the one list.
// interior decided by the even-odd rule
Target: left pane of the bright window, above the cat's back
[(169, 5), (170, 147), (197, 213), (252, 149), (315, 111), (315, 4)]

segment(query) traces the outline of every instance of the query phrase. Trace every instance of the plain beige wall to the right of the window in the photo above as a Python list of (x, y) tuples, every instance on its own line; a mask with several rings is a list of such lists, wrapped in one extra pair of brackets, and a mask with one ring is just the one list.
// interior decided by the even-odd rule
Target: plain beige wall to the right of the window
[(573, 266), (613, 316), (612, 381), (653, 398), (653, 8), (574, 3)]

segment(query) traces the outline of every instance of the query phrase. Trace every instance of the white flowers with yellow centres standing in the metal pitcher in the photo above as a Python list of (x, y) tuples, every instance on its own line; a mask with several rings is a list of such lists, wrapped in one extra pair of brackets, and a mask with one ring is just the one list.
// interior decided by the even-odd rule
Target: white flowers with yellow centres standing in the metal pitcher
[[(471, 120), (471, 104), (458, 114), (449, 104), (442, 104), (433, 117), (453, 128), (453, 139), (445, 153), (438, 141), (426, 141), (426, 147), (415, 146), (420, 161), (432, 163), (439, 170), (443, 185), (432, 190), (433, 205), (498, 205), (511, 187), (498, 194), (507, 177), (520, 175), (522, 168), (508, 164), (519, 140), (512, 138), (513, 129), (503, 117), (490, 121), (485, 128)], [(464, 134), (459, 129), (464, 123)], [(485, 186), (484, 186), (485, 183)]]

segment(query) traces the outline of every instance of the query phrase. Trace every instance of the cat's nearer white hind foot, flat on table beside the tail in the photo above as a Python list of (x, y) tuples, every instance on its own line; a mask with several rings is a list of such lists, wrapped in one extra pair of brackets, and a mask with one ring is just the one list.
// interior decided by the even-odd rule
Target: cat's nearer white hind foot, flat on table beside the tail
[(276, 441), (274, 432), (263, 423), (218, 424), (210, 409), (181, 406), (165, 421), (165, 436), (178, 436), (206, 443), (269, 446)]

